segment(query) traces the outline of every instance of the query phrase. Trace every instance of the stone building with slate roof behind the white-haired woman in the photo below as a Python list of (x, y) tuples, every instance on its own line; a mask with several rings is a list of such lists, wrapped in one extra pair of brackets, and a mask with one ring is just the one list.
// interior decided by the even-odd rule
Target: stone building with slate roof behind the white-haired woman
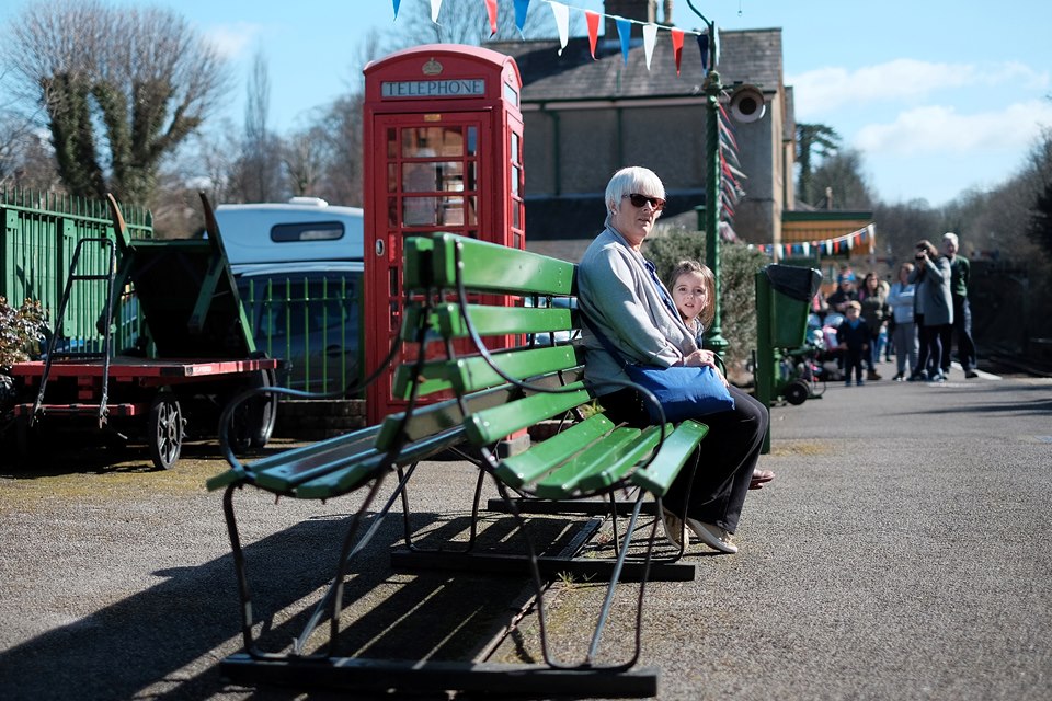
[[(663, 25), (655, 0), (607, 0), (605, 12)], [(718, 18), (717, 18), (718, 20)], [(704, 28), (699, 20), (698, 25)], [(695, 27), (681, 27), (693, 31)], [(724, 92), (752, 84), (765, 114), (731, 120), (745, 196), (732, 227), (740, 240), (779, 243), (782, 212), (793, 208), (792, 90), (782, 81), (781, 30), (719, 31), (717, 65)], [(513, 56), (523, 78), (526, 230), (530, 250), (579, 260), (603, 226), (603, 192), (624, 165), (644, 165), (665, 184), (663, 221), (697, 226), (705, 206), (705, 71), (695, 35), (685, 36), (676, 72), (670, 33), (661, 30), (648, 70), (641, 25), (632, 25), (627, 62), (613, 20), (593, 59), (587, 37), (488, 45)]]

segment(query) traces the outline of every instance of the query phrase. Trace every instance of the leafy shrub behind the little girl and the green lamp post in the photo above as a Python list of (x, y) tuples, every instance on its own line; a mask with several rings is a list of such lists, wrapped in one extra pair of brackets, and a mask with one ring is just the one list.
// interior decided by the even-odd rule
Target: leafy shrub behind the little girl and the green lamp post
[[(647, 240), (645, 256), (653, 262), (662, 280), (676, 263), (694, 258), (705, 263), (705, 232), (666, 230)], [(742, 243), (720, 246), (720, 330), (730, 344), (724, 354), (728, 372), (744, 371), (756, 348), (756, 272), (770, 260)]]

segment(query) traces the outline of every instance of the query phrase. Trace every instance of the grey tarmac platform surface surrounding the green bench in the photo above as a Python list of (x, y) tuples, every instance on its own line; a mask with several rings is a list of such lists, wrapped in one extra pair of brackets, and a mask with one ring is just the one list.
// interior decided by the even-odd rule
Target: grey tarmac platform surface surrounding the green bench
[[(832, 383), (821, 399), (774, 407), (771, 426), (761, 466), (777, 478), (750, 493), (741, 551), (695, 544), (693, 582), (648, 584), (641, 664), (662, 670), (656, 698), (1052, 699), (1052, 379), (958, 371), (942, 384)], [(219, 676), (241, 641), (220, 494), (204, 490), (225, 464), (215, 453), (187, 446), (163, 472), (138, 453), (114, 462), (105, 450), (58, 452), (32, 472), (3, 456), (2, 698), (336, 698)], [(422, 466), (418, 525), (462, 521), (472, 474), (468, 463)], [(267, 632), (287, 642), (352, 502), (275, 506), (245, 491), (238, 504), (249, 555), (281, 574), (262, 601), (290, 612)], [(502, 518), (490, 526), (500, 530)], [(375, 591), (348, 612), (352, 647), (481, 654), (471, 646), (492, 621), (471, 618), (458, 643), (432, 633), (423, 611), (403, 618), (407, 601), (507, 609), (525, 578), (392, 572), (398, 535), (397, 522), (385, 526), (356, 567), (354, 585)], [(289, 553), (305, 550), (308, 566), (290, 567), (299, 561)], [(603, 588), (554, 586), (549, 624), (562, 653), (586, 641), (591, 628), (579, 623)], [(604, 639), (614, 658), (630, 651), (631, 621), (617, 614), (633, 586)], [(526, 616), (491, 658), (529, 658), (535, 629)]]

